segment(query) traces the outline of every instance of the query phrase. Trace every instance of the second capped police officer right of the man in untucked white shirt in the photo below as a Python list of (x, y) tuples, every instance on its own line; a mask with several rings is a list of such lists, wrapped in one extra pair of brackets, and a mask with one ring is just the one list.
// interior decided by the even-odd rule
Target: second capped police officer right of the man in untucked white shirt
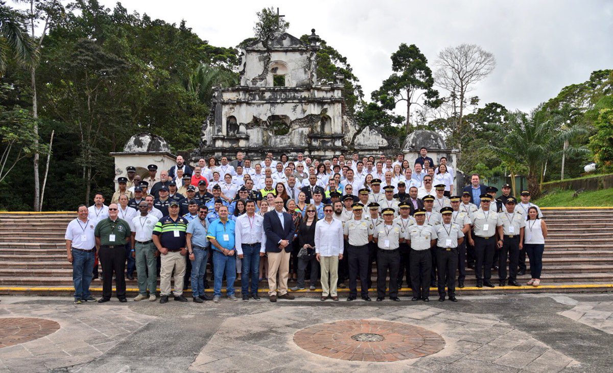
[(394, 209), (381, 211), (383, 223), (375, 228), (374, 238), (379, 247), (377, 253), (377, 302), (385, 298), (387, 271), (389, 270), (389, 299), (398, 298), (398, 269), (400, 268), (400, 253), (398, 246), (405, 237), (400, 234), (400, 227), (394, 224)]

